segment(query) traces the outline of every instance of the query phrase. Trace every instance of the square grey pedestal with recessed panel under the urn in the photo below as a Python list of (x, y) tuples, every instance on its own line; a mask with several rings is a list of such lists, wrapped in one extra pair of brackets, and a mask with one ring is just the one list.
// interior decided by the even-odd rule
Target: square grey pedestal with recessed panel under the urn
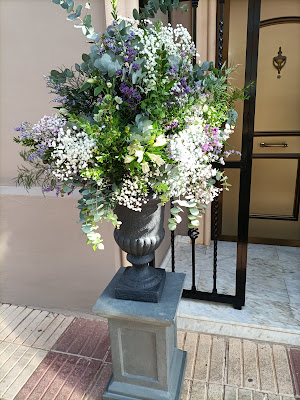
[(167, 272), (159, 303), (115, 298), (120, 268), (93, 312), (108, 319), (113, 375), (105, 400), (179, 400), (186, 352), (177, 349), (176, 312), (184, 274)]

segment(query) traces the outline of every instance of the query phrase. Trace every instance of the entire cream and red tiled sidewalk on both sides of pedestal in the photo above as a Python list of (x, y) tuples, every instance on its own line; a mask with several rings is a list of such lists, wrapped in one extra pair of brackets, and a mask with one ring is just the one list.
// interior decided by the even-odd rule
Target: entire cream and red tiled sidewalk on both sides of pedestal
[[(300, 349), (189, 331), (178, 347), (188, 352), (181, 400), (295, 398), (289, 354), (299, 385)], [(1, 400), (101, 400), (111, 373), (106, 321), (0, 306)]]

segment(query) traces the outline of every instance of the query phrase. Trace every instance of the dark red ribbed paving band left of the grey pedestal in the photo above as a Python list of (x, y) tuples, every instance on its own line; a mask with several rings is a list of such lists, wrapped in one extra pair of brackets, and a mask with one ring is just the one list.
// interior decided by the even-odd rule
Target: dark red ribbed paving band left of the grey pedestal
[(107, 323), (75, 318), (14, 400), (102, 400), (108, 362)]

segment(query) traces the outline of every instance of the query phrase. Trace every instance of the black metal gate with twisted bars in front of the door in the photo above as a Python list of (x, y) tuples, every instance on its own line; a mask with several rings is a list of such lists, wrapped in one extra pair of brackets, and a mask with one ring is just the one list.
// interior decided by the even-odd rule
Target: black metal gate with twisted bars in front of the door
[[(217, 66), (221, 69), (223, 65), (224, 49), (224, 5), (225, 0), (218, 1), (218, 46), (217, 46)], [(248, 27), (247, 27), (247, 51), (246, 51), (246, 71), (245, 86), (256, 81), (257, 59), (258, 59), (258, 38), (260, 22), (261, 0), (248, 1)], [(197, 40), (197, 7), (198, 1), (192, 0), (192, 32), (193, 40)], [(169, 14), (169, 22), (171, 15)], [(211, 292), (197, 290), (196, 286), (196, 239), (199, 230), (189, 229), (188, 236), (191, 239), (192, 257), (192, 283), (191, 289), (183, 290), (183, 297), (215, 301), (232, 304), (235, 308), (241, 309), (245, 304), (246, 289), (246, 266), (247, 266), (247, 243), (249, 225), (249, 204), (250, 204), (250, 185), (252, 167), (252, 145), (254, 132), (255, 97), (256, 85), (252, 84), (249, 99), (244, 101), (243, 114), (243, 133), (242, 133), (242, 157), (241, 161), (228, 161), (223, 168), (240, 169), (240, 193), (239, 193), (239, 213), (238, 213), (238, 239), (237, 239), (237, 259), (236, 259), (236, 282), (235, 295), (218, 293), (217, 273), (218, 273), (218, 234), (219, 234), (219, 202), (213, 203), (212, 236), (213, 236), (213, 287)], [(172, 201), (171, 201), (172, 206)], [(175, 235), (171, 233), (171, 254), (172, 271), (175, 271)]]

